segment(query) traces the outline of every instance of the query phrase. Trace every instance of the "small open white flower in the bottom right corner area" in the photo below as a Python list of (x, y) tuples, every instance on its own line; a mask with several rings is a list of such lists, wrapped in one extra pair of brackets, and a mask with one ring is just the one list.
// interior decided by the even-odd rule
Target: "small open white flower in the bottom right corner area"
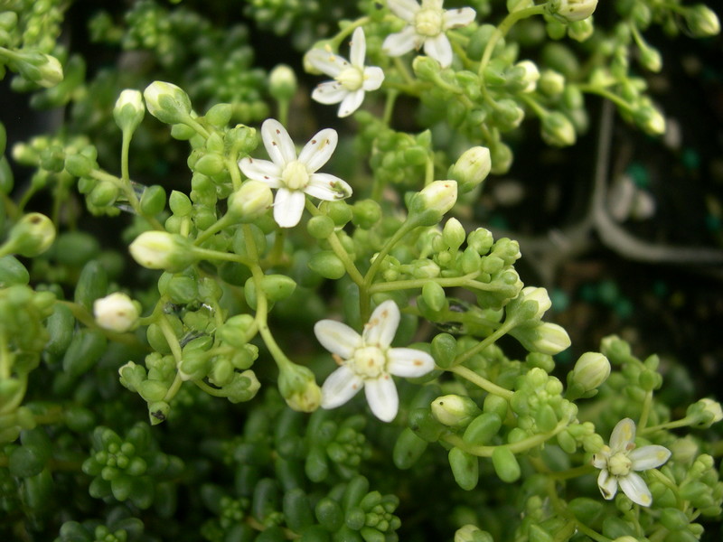
[(597, 477), (597, 487), (603, 497), (611, 500), (620, 484), (620, 489), (630, 500), (641, 506), (650, 506), (653, 502), (650, 490), (634, 471), (660, 467), (668, 461), (671, 451), (658, 444), (635, 449), (634, 440), (634, 421), (630, 418), (620, 420), (610, 435), (610, 445), (603, 446), (593, 455), (593, 465), (602, 469)]

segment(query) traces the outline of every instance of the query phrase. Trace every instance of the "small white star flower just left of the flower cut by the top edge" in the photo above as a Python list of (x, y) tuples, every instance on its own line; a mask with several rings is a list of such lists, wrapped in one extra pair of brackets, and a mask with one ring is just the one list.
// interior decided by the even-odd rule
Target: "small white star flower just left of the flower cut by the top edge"
[(377, 66), (366, 68), (364, 56), (367, 42), (362, 28), (352, 34), (349, 62), (333, 54), (331, 49), (312, 49), (306, 53), (306, 61), (316, 70), (333, 77), (333, 81), (321, 83), (311, 97), (322, 104), (338, 104), (339, 117), (348, 117), (364, 100), (364, 92), (379, 89), (384, 72)]

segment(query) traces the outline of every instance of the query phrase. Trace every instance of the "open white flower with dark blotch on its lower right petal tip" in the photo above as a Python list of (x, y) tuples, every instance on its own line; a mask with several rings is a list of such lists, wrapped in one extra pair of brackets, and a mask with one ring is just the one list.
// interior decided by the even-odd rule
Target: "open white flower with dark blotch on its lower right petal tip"
[(352, 187), (329, 173), (316, 173), (331, 158), (337, 142), (336, 130), (325, 128), (311, 138), (296, 157), (294, 142), (286, 128), (268, 118), (261, 126), (261, 138), (268, 160), (243, 158), (239, 168), (254, 181), (276, 188), (274, 220), (281, 228), (293, 228), (301, 220), (305, 194), (320, 200), (343, 200), (352, 195)]

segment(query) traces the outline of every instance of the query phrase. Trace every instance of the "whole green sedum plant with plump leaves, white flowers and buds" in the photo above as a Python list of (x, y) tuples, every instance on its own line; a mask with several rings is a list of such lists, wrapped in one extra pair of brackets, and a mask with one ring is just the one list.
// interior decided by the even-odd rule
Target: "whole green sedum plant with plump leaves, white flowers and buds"
[(709, 7), (87, 7), (0, 0), (0, 76), (51, 111), (14, 145), (1, 114), (3, 539), (714, 539), (718, 401), (618, 335), (566, 365), (479, 213), (596, 100), (662, 135), (646, 35)]

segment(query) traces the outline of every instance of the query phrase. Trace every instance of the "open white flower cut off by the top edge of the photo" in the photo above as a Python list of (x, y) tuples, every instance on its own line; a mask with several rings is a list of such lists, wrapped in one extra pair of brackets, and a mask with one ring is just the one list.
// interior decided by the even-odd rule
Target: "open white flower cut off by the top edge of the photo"
[(476, 13), (471, 7), (442, 9), (444, 0), (387, 0), (393, 14), (408, 23), (399, 33), (387, 36), (381, 48), (390, 56), (401, 56), (424, 45), (424, 51), (442, 68), (452, 64), (452, 45), (445, 32), (474, 21)]

